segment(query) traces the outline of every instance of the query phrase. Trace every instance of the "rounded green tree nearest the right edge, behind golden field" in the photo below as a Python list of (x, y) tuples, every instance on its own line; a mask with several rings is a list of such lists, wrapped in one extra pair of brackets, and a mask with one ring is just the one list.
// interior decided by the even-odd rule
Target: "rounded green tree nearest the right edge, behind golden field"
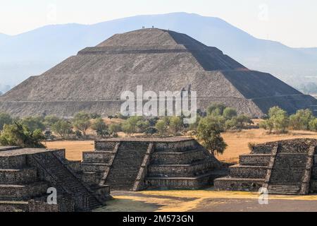
[(290, 116), (290, 127), (294, 130), (309, 130), (309, 122), (313, 119), (310, 109), (301, 109)]

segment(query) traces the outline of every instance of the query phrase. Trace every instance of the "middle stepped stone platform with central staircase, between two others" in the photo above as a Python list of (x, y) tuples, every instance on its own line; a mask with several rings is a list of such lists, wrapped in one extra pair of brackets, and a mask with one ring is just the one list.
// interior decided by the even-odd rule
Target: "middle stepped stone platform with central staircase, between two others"
[(111, 191), (199, 189), (226, 172), (191, 138), (113, 138), (83, 153), (82, 180)]

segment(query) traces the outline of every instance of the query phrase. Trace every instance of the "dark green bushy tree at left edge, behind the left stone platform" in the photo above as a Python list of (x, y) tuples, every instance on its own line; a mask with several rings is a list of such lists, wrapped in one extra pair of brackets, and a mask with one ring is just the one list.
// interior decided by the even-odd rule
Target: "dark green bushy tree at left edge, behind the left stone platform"
[(45, 148), (45, 140), (40, 129), (30, 130), (27, 125), (14, 122), (4, 126), (0, 135), (1, 145), (17, 145), (21, 148)]

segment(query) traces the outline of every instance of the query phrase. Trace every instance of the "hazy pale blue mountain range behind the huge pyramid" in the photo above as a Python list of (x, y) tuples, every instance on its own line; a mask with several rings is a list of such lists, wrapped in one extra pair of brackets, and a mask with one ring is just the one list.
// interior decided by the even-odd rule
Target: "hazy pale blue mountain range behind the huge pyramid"
[(189, 13), (134, 16), (94, 25), (48, 25), (0, 40), (0, 83), (16, 85), (39, 75), (80, 49), (95, 46), (115, 33), (145, 26), (186, 33), (217, 47), (249, 69), (273, 73), (290, 83), (317, 81), (317, 49), (296, 49), (257, 39), (220, 18)]

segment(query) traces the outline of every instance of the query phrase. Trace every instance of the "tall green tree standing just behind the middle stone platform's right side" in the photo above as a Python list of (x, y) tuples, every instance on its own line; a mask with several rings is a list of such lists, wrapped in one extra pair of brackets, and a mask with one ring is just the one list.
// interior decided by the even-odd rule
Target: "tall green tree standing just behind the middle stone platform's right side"
[(206, 117), (199, 122), (197, 138), (212, 155), (223, 154), (228, 146), (221, 137), (222, 131), (222, 126), (213, 117)]

